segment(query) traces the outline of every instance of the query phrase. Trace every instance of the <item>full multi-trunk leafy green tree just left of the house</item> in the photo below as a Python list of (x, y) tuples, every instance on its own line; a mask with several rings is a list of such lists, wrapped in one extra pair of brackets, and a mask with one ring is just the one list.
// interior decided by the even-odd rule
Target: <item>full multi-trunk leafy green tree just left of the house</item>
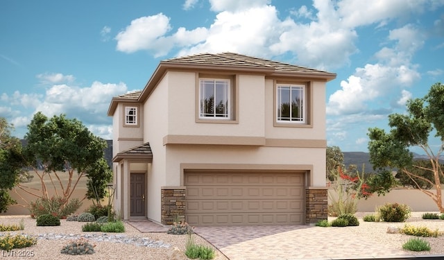
[[(91, 193), (89, 189), (92, 187), (95, 187), (99, 199), (103, 198), (105, 187), (101, 183), (109, 182), (112, 178), (109, 166), (106, 165), (105, 168), (103, 164), (106, 142), (89, 132), (80, 121), (67, 119), (63, 114), (49, 119), (37, 112), (28, 125), (25, 139), (28, 144), (23, 155), (28, 166), (31, 166), (35, 175), (40, 178), (42, 190), (39, 194), (26, 189), (22, 184), (17, 187), (38, 198), (49, 200), (48, 188), (44, 182), (47, 175), (56, 196), (64, 202), (62, 207), (65, 207), (80, 178), (88, 177), (88, 183), (91, 184), (88, 185), (85, 198), (90, 197), (88, 194)], [(42, 165), (43, 171), (38, 171), (37, 165)], [(60, 174), (69, 175), (67, 183), (62, 182)]]

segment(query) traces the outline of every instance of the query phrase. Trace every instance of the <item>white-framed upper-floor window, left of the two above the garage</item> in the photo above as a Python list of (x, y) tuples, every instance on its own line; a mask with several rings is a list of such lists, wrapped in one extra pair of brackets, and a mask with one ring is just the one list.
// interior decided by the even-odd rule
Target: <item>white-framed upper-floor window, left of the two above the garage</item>
[(231, 119), (230, 80), (199, 80), (199, 118)]

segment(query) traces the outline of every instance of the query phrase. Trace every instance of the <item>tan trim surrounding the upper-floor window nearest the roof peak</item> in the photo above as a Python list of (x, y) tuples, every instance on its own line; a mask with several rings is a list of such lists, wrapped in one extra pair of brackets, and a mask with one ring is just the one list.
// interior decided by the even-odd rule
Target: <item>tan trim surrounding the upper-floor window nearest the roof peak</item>
[[(228, 118), (200, 116), (200, 80), (227, 80), (228, 81)], [(237, 75), (227, 75), (224, 73), (196, 73), (196, 123), (239, 123), (237, 107), (239, 107)]]

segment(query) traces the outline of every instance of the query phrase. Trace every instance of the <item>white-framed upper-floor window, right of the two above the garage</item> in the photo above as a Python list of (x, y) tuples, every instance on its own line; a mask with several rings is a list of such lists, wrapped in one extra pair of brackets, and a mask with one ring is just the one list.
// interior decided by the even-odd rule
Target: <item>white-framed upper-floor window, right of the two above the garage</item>
[(278, 123), (306, 123), (305, 85), (277, 85), (276, 121)]

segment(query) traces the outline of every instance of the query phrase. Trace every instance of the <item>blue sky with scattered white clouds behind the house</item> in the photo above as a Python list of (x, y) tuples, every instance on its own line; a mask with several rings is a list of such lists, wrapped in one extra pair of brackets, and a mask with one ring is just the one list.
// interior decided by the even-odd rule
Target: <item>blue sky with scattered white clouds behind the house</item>
[(20, 138), (41, 111), (111, 139), (112, 96), (196, 53), (337, 73), (327, 144), (343, 151), (367, 151), (368, 128), (388, 129), (388, 114), (444, 82), (444, 0), (4, 0), (0, 32), (0, 116)]

